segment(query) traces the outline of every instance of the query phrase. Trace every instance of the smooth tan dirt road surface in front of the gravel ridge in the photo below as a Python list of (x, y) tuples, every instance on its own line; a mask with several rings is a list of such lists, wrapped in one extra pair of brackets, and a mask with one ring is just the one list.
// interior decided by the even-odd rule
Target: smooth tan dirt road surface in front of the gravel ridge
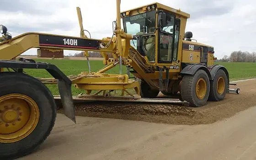
[(20, 160), (255, 160), (256, 107), (208, 125), (58, 115), (52, 134)]

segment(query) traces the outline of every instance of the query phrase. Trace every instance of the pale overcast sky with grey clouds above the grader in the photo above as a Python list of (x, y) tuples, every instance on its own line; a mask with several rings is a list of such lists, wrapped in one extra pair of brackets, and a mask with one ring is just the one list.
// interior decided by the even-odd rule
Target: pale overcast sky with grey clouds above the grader
[[(0, 23), (14, 36), (45, 32), (80, 36), (76, 7), (92, 38), (111, 37), (116, 0), (0, 0)], [(121, 0), (121, 11), (153, 2), (181, 9), (191, 15), (186, 31), (215, 48), (218, 59), (232, 51), (256, 51), (256, 0)], [(74, 53), (64, 51), (64, 54)], [(35, 49), (25, 54), (36, 55)]]

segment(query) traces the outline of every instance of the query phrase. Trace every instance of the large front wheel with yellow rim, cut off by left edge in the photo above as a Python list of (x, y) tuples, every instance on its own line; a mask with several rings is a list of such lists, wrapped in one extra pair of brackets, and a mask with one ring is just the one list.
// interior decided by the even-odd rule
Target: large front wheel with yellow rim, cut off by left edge
[(43, 83), (23, 73), (0, 73), (0, 160), (30, 154), (48, 137), (55, 117)]

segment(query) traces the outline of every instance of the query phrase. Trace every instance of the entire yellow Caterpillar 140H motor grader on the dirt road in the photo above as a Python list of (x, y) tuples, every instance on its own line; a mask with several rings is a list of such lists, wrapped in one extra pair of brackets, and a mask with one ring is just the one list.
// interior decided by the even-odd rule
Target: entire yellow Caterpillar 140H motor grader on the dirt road
[[(80, 37), (37, 32), (12, 37), (0, 25), (0, 160), (30, 154), (50, 134), (56, 117), (54, 99), (58, 96), (44, 85), (49, 81), (58, 84), (64, 114), (74, 122), (75, 98), (189, 103), (201, 107), (208, 100), (223, 100), (226, 93), (239, 94), (239, 89), (229, 88), (234, 84), (229, 84), (228, 70), (213, 64), (213, 47), (197, 43), (192, 32), (185, 33), (189, 14), (159, 3), (120, 12), (120, 0), (116, 3), (112, 37), (102, 39), (85, 35), (79, 7)], [(53, 64), (16, 59), (30, 48), (84, 51), (89, 72), (67, 76)], [(91, 72), (88, 51), (100, 52), (104, 57), (105, 66), (98, 72)], [(119, 74), (105, 73), (116, 66), (120, 67)], [(127, 74), (122, 73), (122, 66), (128, 67)], [(37, 79), (23, 69), (46, 69), (53, 78)], [(130, 73), (137, 80), (131, 80)], [(74, 97), (72, 84), (86, 94)], [(121, 96), (110, 96), (116, 90), (122, 90)], [(160, 92), (180, 98), (156, 99)]]

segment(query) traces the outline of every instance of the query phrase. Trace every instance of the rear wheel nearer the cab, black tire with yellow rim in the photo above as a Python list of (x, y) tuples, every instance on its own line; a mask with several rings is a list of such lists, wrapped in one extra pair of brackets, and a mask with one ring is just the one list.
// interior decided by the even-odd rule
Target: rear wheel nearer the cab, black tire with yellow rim
[(207, 103), (210, 82), (207, 73), (199, 69), (194, 75), (184, 75), (181, 82), (181, 99), (189, 106), (201, 107)]

